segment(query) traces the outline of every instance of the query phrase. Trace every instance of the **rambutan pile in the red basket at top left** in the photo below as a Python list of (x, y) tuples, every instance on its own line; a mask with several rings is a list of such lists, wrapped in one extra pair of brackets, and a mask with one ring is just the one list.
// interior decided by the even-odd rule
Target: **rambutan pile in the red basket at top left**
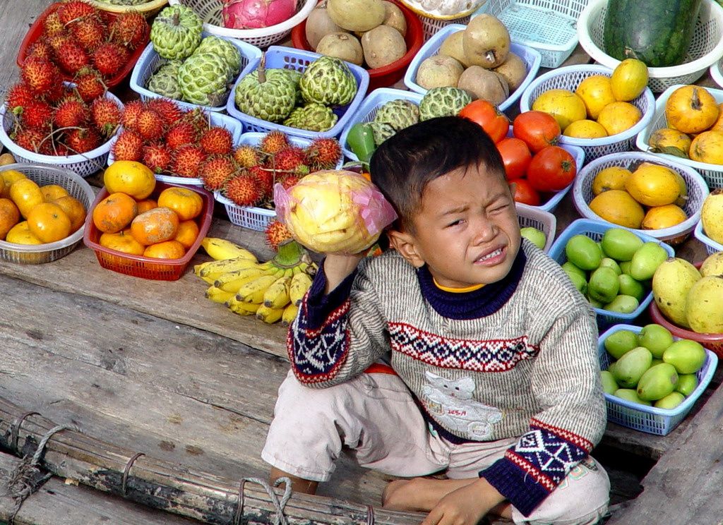
[(147, 43), (149, 31), (139, 12), (109, 13), (85, 1), (70, 0), (43, 19), (42, 31), (27, 48), (23, 66), (32, 58), (43, 58), (69, 82), (76, 82), (84, 69), (107, 82), (122, 71), (136, 48)]

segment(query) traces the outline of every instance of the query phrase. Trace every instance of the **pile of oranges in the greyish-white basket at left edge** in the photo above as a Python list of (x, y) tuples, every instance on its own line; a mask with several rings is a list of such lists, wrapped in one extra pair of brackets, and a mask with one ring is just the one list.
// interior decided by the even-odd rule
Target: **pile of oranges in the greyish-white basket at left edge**
[(0, 240), (55, 243), (79, 230), (85, 214), (82, 202), (63, 186), (39, 186), (18, 170), (0, 172)]

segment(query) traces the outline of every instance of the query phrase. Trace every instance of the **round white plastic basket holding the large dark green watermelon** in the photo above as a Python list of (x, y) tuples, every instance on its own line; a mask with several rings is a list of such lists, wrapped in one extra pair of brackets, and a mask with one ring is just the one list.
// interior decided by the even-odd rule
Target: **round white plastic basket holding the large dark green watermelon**
[[(607, 1), (592, 0), (583, 10), (578, 20), (578, 36), (580, 45), (594, 61), (615, 69), (620, 61), (602, 51)], [(701, 2), (698, 22), (686, 56), (685, 63), (678, 66), (649, 67), (650, 89), (657, 93), (672, 84), (693, 84), (723, 56), (723, 7), (716, 1)]]

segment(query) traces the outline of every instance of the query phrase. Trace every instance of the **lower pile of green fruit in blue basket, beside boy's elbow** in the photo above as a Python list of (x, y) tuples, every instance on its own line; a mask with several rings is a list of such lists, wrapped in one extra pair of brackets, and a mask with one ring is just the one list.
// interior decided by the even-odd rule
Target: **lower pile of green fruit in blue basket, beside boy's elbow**
[(659, 324), (617, 330), (603, 344), (612, 359), (600, 373), (604, 391), (648, 407), (677, 407), (698, 387), (696, 373), (706, 363), (700, 343), (675, 340)]

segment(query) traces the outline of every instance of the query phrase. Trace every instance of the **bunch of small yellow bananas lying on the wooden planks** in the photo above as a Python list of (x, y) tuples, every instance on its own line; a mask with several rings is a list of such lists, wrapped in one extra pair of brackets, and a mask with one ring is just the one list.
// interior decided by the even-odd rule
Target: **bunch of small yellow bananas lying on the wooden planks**
[(265, 262), (226, 239), (207, 237), (201, 246), (214, 259), (194, 266), (194, 273), (211, 285), (207, 298), (266, 323), (281, 320), (288, 325), (294, 320), (317, 270), (303, 246), (295, 240), (281, 243)]

